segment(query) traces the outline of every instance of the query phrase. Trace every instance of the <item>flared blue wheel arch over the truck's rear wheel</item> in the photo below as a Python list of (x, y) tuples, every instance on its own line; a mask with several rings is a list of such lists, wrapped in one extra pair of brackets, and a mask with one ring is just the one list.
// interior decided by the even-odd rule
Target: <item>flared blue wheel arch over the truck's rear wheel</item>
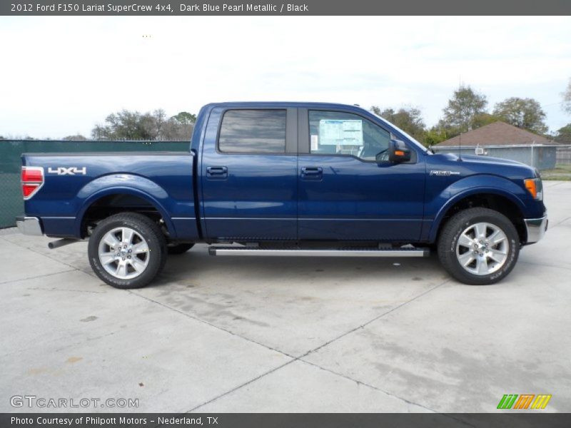
[(79, 205), (76, 211), (78, 215), (74, 225), (77, 236), (81, 234), (81, 223), (88, 208), (104, 196), (117, 194), (133, 195), (146, 200), (161, 214), (171, 236), (175, 235), (171, 216), (164, 208), (168, 200), (166, 190), (148, 178), (141, 177), (141, 175), (113, 174), (96, 178), (79, 190), (76, 197), (76, 203)]

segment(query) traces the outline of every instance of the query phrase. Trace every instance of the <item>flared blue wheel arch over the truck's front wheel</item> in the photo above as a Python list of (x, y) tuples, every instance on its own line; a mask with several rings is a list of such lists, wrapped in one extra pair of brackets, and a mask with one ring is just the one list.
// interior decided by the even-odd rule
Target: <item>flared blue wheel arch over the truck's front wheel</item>
[(430, 223), (428, 240), (434, 242), (440, 223), (444, 216), (456, 203), (463, 198), (477, 194), (500, 195), (512, 203), (525, 215), (525, 200), (530, 198), (525, 189), (515, 184), (512, 180), (497, 175), (470, 175), (461, 178), (448, 185), (440, 193), (436, 194), (425, 205), (425, 220)]

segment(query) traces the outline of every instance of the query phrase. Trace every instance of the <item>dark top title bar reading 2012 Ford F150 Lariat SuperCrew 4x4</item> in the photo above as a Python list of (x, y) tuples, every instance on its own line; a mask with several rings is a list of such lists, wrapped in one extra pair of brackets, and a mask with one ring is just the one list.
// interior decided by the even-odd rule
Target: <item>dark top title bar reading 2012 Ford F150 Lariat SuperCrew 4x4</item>
[[(570, 0), (2, 0), (7, 16), (571, 15)], [(468, 29), (467, 31), (477, 31)]]

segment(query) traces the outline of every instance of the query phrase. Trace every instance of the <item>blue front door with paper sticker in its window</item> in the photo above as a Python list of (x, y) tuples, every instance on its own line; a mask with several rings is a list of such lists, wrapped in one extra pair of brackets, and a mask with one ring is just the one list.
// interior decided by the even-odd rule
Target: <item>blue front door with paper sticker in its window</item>
[(299, 123), (300, 240), (420, 238), (422, 155), (388, 162), (390, 132), (355, 113), (300, 109)]

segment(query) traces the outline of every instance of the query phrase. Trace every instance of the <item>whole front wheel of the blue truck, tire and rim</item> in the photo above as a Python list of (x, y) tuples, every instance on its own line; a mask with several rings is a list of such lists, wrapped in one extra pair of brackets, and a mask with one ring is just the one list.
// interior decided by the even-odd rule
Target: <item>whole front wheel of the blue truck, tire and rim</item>
[(438, 258), (455, 279), (470, 285), (489, 285), (513, 269), (520, 238), (512, 222), (488, 208), (455, 214), (438, 239)]

